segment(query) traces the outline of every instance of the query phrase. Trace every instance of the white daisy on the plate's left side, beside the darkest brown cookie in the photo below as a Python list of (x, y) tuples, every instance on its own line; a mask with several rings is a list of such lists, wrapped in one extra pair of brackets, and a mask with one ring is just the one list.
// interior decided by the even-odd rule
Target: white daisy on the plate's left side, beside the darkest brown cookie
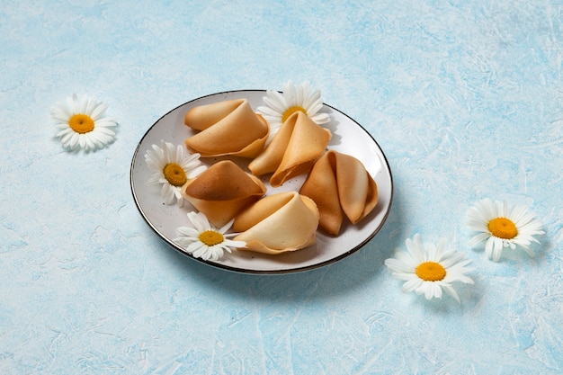
[(200, 154), (184, 154), (181, 145), (174, 146), (170, 142), (161, 140), (161, 146), (152, 145), (147, 150), (145, 161), (152, 170), (148, 184), (162, 183), (160, 195), (166, 204), (173, 204), (174, 199), (178, 206), (183, 206), (183, 196), (180, 190), (189, 179), (197, 177), (205, 170), (201, 165)]

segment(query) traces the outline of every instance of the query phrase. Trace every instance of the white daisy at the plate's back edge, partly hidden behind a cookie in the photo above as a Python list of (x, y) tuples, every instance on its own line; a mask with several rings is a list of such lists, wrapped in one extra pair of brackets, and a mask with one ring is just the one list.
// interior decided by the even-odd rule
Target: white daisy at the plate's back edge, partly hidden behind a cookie
[(282, 94), (268, 90), (263, 100), (266, 105), (258, 107), (257, 110), (270, 124), (270, 137), (267, 143), (294, 112), (304, 112), (319, 125), (330, 121), (328, 113), (319, 112), (323, 108), (320, 90), (311, 94), (311, 85), (308, 82), (295, 87), (290, 81), (283, 85)]

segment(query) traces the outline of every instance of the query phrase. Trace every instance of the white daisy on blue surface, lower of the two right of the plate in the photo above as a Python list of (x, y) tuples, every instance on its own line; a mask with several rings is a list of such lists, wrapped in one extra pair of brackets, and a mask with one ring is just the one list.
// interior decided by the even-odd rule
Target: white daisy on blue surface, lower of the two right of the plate
[(442, 238), (438, 246), (423, 244), (420, 235), (405, 242), (407, 252), (397, 249), (394, 258), (385, 260), (385, 265), (395, 279), (405, 281), (403, 291), (416, 291), (426, 299), (441, 299), (445, 290), (460, 303), (460, 296), (453, 288), (453, 281), (472, 284), (465, 273), (472, 271), (466, 267), (471, 261), (465, 254), (446, 250), (446, 239)]

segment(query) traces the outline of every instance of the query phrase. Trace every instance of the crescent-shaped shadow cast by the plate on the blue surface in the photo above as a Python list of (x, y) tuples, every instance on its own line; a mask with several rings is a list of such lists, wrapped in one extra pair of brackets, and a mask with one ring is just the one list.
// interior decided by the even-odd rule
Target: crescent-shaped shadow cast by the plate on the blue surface
[[(395, 248), (404, 245), (403, 210), (396, 191), (388, 219), (370, 242), (338, 262), (305, 272), (277, 275), (229, 272), (196, 262), (172, 248), (165, 252), (165, 256), (175, 263), (175, 268), (180, 263), (193, 280), (212, 284), (214, 290), (228, 293), (229, 298), (239, 295), (244, 299), (275, 300), (277, 303), (329, 299), (346, 295), (381, 274), (390, 277), (384, 261)], [(373, 293), (377, 295), (378, 290)]]

